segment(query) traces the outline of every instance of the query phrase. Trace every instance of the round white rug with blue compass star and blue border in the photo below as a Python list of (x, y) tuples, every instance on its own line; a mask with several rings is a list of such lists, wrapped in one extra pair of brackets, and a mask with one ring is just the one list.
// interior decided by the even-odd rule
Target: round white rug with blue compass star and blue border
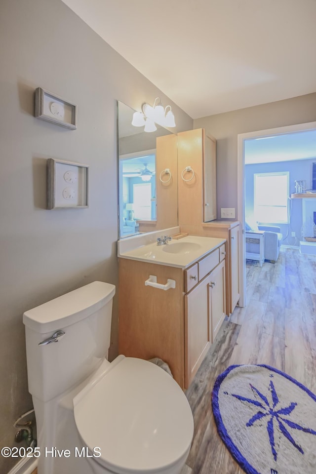
[(249, 474), (316, 474), (316, 395), (269, 365), (231, 365), (216, 380), (217, 431)]

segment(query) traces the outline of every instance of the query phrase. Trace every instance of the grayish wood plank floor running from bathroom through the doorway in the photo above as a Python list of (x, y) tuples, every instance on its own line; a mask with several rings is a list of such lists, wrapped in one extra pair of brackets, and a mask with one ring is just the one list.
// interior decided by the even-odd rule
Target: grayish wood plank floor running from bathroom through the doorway
[(217, 434), (216, 377), (232, 364), (272, 365), (316, 393), (316, 257), (281, 251), (276, 264), (248, 261), (247, 307), (225, 320), (186, 392), (195, 432), (181, 474), (242, 474)]

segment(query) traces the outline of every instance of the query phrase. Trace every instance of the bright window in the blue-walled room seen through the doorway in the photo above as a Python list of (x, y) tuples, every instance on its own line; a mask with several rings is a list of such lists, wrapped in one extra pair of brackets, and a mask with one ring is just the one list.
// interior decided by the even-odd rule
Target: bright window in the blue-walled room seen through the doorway
[(254, 217), (259, 222), (287, 223), (289, 172), (254, 174)]

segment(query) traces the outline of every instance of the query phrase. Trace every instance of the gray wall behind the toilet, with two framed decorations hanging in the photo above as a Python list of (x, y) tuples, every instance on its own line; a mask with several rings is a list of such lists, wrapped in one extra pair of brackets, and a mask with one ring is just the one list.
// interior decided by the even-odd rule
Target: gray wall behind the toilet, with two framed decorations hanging
[[(59, 0), (0, 1), (0, 446), (32, 407), (24, 311), (99, 279), (117, 284), (117, 100), (160, 96), (177, 131), (193, 120)], [(33, 117), (43, 87), (78, 105), (78, 129)], [(90, 166), (88, 209), (46, 210), (46, 159)], [(117, 296), (111, 356), (117, 353)], [(16, 460), (0, 458), (6, 473)]]

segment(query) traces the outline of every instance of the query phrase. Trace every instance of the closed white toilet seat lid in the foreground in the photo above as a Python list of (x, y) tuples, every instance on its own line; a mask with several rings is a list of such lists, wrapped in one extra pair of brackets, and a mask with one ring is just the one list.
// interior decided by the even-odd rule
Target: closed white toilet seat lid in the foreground
[(91, 453), (99, 447), (101, 456), (94, 461), (118, 474), (154, 473), (176, 464), (193, 437), (192, 412), (181, 388), (146, 360), (123, 357), (112, 364), (74, 399), (83, 444)]

